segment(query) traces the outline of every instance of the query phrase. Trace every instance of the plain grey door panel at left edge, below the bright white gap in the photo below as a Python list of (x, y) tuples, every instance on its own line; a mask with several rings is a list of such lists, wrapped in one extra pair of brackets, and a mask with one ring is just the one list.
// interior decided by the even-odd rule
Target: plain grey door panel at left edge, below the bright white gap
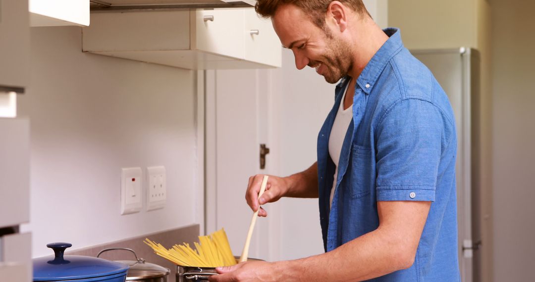
[(29, 122), (0, 118), (0, 228), (29, 221)]

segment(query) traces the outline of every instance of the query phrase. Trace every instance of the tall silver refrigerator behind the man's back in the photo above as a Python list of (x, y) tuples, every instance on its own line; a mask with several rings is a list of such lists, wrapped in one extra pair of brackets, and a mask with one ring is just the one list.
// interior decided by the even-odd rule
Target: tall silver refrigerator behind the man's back
[(411, 50), (445, 90), (457, 130), (458, 252), (461, 280), (479, 282), (481, 252), (479, 214), (479, 52), (471, 48)]

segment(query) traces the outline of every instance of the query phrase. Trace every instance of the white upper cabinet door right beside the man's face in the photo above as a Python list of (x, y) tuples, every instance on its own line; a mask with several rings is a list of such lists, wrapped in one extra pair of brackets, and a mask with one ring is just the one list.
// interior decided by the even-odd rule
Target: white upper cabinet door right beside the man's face
[(271, 21), (259, 18), (254, 9), (245, 9), (244, 27), (245, 59), (280, 67), (282, 46)]

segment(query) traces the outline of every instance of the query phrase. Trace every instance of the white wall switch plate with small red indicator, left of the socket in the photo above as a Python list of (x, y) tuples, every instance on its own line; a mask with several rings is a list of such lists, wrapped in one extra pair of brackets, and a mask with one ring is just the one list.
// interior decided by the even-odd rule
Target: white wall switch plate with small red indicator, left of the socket
[(121, 215), (141, 210), (141, 168), (123, 168), (121, 177)]

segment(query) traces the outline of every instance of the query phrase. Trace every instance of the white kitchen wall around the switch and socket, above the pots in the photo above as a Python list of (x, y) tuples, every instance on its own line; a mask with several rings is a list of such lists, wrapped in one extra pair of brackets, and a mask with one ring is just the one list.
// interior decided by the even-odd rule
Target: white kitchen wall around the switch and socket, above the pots
[[(81, 52), (78, 27), (32, 28), (32, 80), (19, 98), (31, 119), (33, 256), (203, 220), (197, 209), (195, 72)], [(120, 169), (163, 165), (164, 209), (120, 215)]]

